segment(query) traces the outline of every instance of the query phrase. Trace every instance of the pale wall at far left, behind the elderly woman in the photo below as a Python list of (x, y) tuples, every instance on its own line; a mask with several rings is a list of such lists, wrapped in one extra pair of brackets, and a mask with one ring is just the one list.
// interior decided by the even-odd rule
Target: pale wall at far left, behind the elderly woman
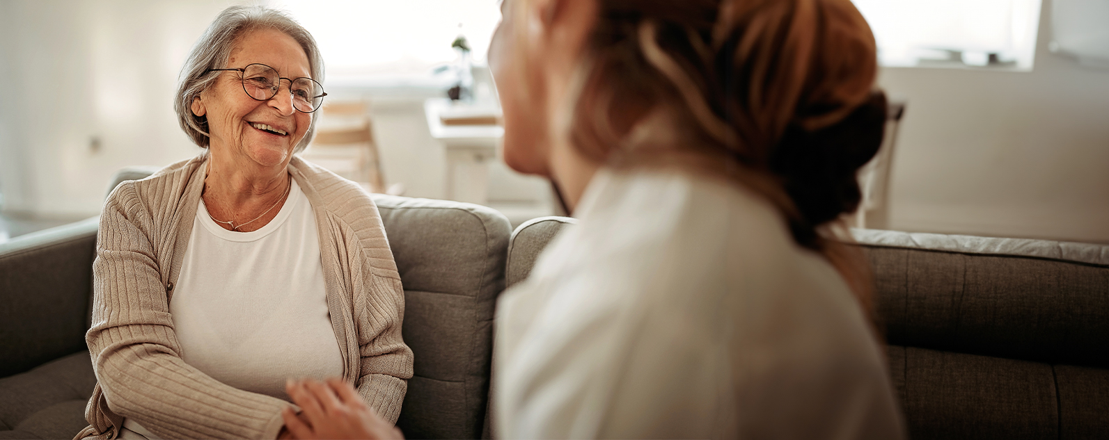
[(172, 96), (193, 42), (228, 3), (0, 2), (3, 209), (92, 215), (115, 170), (195, 154)]

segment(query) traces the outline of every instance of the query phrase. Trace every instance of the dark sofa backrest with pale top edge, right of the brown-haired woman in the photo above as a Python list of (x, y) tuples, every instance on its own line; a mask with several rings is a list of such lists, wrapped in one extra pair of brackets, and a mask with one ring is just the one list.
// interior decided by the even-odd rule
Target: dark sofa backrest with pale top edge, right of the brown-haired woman
[(1109, 246), (856, 229), (891, 345), (1109, 368)]

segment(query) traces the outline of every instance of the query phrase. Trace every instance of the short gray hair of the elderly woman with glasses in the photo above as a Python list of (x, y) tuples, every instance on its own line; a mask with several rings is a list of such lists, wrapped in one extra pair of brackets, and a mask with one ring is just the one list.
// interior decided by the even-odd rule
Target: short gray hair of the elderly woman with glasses
[[(196, 44), (193, 45), (185, 65), (181, 68), (177, 80), (177, 95), (173, 101), (173, 110), (177, 112), (177, 122), (185, 134), (202, 149), (208, 147), (207, 117), (196, 116), (192, 111), (193, 100), (215, 83), (218, 75), (208, 75), (208, 69), (226, 68), (227, 59), (235, 43), (247, 32), (258, 29), (274, 29), (289, 35), (308, 57), (308, 68), (312, 79), (324, 82), (324, 59), (319, 54), (316, 40), (304, 27), (283, 11), (262, 6), (233, 6), (220, 12), (215, 21), (208, 25)], [(317, 117), (312, 119), (304, 139), (296, 145), (294, 153), (299, 153), (312, 142), (315, 134)]]

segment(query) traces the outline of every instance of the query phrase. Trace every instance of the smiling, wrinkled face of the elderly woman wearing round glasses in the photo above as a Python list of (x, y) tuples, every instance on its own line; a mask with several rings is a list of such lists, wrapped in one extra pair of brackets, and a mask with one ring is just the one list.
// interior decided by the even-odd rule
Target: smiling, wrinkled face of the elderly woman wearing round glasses
[[(220, 68), (242, 69), (253, 63), (274, 68), (283, 78), (312, 78), (308, 57), (296, 40), (272, 29), (243, 35), (227, 65)], [(312, 123), (312, 114), (293, 108), (289, 82), (282, 80), (274, 98), (256, 101), (243, 90), (240, 72), (218, 74), (215, 84), (192, 106), (194, 114), (207, 116), (212, 154), (231, 154), (235, 162), (250, 160), (263, 166), (287, 163)]]

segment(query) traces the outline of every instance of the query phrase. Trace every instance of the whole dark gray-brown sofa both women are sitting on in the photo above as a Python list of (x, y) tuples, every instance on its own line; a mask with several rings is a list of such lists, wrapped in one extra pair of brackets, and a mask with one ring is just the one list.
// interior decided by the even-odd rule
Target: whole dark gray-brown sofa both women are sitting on
[[(140, 177), (142, 173), (130, 174)], [(375, 195), (416, 356), (398, 426), (489, 437), (497, 295), (573, 221), (509, 231), (487, 207)], [(96, 219), (0, 244), (0, 439), (71, 438), (95, 381)], [(1109, 246), (857, 231), (916, 439), (1109, 438)]]

